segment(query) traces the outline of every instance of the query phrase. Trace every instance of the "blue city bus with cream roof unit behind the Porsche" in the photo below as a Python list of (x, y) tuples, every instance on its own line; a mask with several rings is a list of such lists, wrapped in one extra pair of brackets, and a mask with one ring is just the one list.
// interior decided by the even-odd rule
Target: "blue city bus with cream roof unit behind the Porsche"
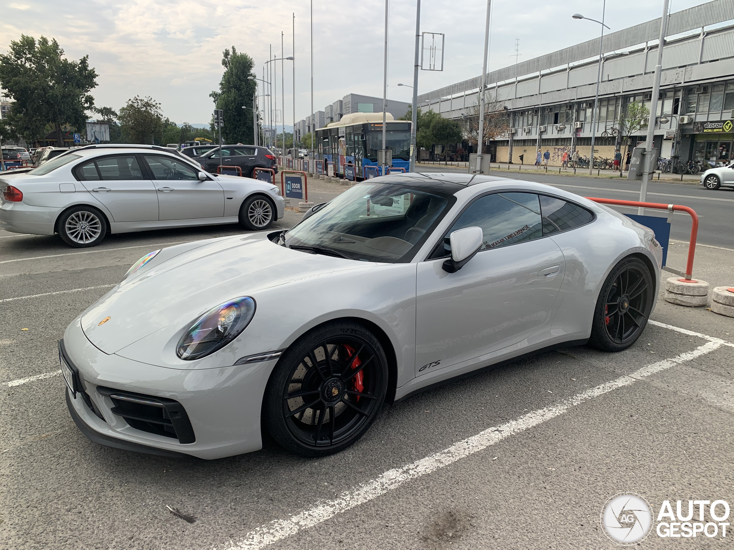
[[(386, 118), (386, 147), (393, 152), (392, 166), (407, 172), (411, 122), (393, 120), (389, 113)], [(316, 158), (333, 162), (335, 172), (341, 176), (344, 164), (353, 163), (357, 179), (362, 180), (363, 166), (377, 166), (377, 151), (382, 149), (382, 113), (345, 114), (339, 122), (316, 130), (315, 141)]]

